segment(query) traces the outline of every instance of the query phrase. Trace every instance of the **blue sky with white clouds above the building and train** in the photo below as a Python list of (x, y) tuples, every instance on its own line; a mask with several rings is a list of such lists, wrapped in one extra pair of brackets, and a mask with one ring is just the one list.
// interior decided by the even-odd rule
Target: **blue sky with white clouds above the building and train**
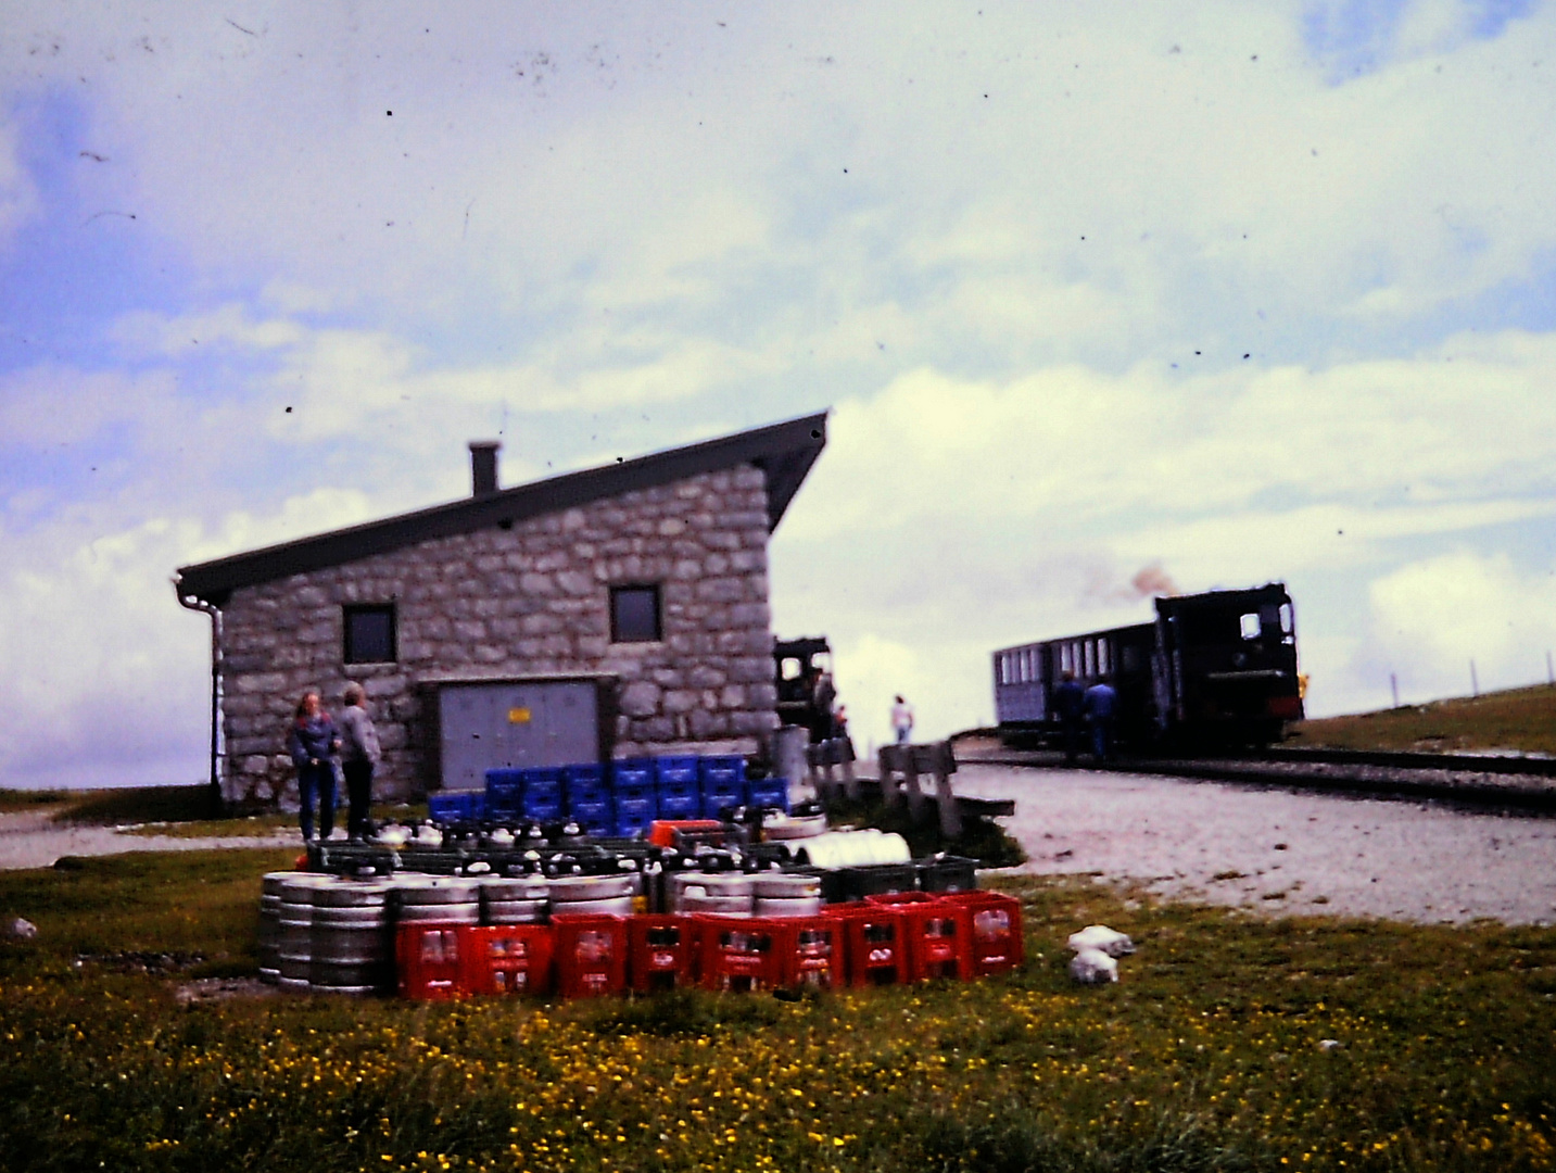
[(829, 409), (860, 748), (1288, 583), (1309, 711), (1547, 680), (1556, 6), (0, 12), (0, 784), (205, 776), (180, 565)]

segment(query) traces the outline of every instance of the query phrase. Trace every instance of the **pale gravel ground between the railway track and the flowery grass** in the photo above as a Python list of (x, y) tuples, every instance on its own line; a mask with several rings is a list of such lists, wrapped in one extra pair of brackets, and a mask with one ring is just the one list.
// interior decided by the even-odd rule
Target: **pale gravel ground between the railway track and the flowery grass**
[(1089, 770), (963, 765), (1015, 798), (1019, 871), (1144, 881), (1265, 913), (1556, 924), (1556, 818)]

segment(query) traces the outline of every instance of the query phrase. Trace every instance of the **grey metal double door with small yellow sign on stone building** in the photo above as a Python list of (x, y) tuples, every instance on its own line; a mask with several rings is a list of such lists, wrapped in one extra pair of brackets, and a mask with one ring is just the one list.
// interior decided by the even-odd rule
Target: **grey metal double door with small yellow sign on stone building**
[(571, 765), (601, 756), (593, 680), (442, 685), (437, 697), (445, 790), (481, 790), (499, 765)]

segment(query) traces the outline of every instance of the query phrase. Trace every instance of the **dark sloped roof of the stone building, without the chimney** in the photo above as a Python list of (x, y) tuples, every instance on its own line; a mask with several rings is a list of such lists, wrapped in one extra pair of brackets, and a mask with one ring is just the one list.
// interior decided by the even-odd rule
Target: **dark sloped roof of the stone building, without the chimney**
[(215, 562), (182, 566), (173, 586), (180, 599), (202, 599), (216, 607), (240, 586), (285, 579), (289, 574), (338, 566), (429, 538), (470, 534), (501, 523), (524, 521), (635, 490), (683, 481), (752, 464), (767, 473), (767, 529), (778, 527), (800, 492), (806, 473), (826, 445), (826, 412), (724, 436), (717, 440), (671, 448), (601, 468), (563, 473), (527, 485), (468, 496), (447, 506), (361, 526), (349, 526), (279, 546), (232, 554)]

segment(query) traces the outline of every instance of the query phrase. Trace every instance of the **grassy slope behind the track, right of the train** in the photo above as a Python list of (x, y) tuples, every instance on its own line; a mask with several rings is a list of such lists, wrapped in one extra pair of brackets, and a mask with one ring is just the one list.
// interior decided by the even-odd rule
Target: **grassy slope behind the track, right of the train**
[(1287, 745), (1344, 750), (1494, 751), (1556, 756), (1556, 688), (1452, 697), (1379, 713), (1304, 720)]

